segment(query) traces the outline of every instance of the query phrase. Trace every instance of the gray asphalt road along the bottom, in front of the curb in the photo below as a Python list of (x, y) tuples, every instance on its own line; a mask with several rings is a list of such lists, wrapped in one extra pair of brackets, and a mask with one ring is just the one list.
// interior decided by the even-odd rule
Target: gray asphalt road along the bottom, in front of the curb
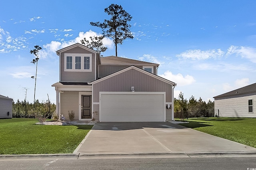
[(256, 170), (256, 157), (0, 160), (1, 170)]

